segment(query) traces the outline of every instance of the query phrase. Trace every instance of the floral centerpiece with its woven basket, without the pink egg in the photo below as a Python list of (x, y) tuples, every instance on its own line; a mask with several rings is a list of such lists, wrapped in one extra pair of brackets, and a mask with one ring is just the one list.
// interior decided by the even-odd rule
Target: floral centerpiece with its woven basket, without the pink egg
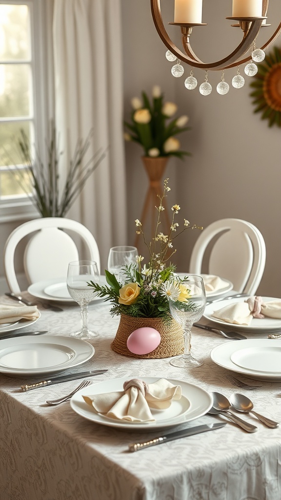
[[(192, 307), (192, 301), (188, 300), (190, 298), (189, 290), (174, 274), (175, 266), (170, 262), (170, 258), (176, 251), (173, 242), (179, 234), (190, 227), (192, 229), (202, 229), (202, 227), (196, 224), (190, 226), (189, 221), (184, 218), (183, 227), (180, 229), (178, 222), (175, 221), (180, 207), (174, 204), (171, 207), (172, 221), (168, 234), (163, 234), (159, 230), (161, 214), (164, 210), (163, 199), (170, 190), (167, 182), (168, 179), (165, 179), (163, 193), (159, 196), (159, 205), (156, 207), (157, 222), (152, 241), (146, 242), (141, 222), (138, 219), (135, 220), (136, 232), (143, 236), (148, 248), (149, 262), (143, 264), (143, 257), (137, 256), (135, 264), (123, 267), (122, 282), (119, 282), (114, 274), (105, 270), (107, 285), (100, 285), (93, 281), (88, 283), (96, 295), (111, 302), (110, 313), (121, 316), (119, 329), (125, 328), (126, 333), (119, 345), (116, 345), (119, 340), (117, 331), (111, 346), (117, 352), (126, 355), (131, 355), (126, 347), (128, 335), (143, 325), (148, 325), (157, 331), (159, 328), (163, 328), (165, 335), (168, 336), (168, 341), (166, 341), (168, 348), (165, 355), (158, 355), (158, 352), (154, 352), (149, 356), (136, 357), (168, 357), (183, 352), (182, 329), (170, 314), (169, 299), (178, 300), (187, 308)], [(162, 333), (160, 334), (162, 336)], [(178, 348), (176, 347), (177, 341)], [(163, 339), (161, 343), (164, 343)]]

